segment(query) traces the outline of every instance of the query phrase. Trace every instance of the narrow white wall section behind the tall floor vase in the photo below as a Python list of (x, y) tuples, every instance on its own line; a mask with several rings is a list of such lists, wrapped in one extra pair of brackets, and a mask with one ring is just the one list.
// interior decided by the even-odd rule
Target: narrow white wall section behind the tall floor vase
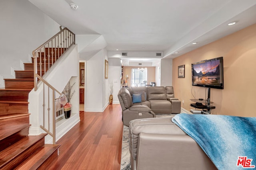
[(108, 59), (108, 66), (109, 66), (109, 83), (113, 83), (113, 103), (119, 104), (119, 100), (117, 94), (121, 87), (121, 60), (118, 58), (111, 58)]

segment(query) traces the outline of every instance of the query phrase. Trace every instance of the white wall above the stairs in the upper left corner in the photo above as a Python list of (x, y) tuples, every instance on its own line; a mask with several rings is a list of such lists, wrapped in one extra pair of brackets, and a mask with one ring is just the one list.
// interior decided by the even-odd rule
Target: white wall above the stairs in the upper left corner
[(32, 51), (60, 31), (59, 24), (28, 0), (0, 1), (0, 87), (3, 78), (14, 78)]

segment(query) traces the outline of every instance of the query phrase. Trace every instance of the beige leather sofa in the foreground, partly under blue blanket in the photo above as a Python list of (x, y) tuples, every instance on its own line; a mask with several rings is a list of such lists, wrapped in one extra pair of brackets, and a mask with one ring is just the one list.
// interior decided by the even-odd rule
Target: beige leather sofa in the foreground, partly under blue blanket
[(132, 170), (217, 170), (172, 117), (136, 119), (129, 125)]

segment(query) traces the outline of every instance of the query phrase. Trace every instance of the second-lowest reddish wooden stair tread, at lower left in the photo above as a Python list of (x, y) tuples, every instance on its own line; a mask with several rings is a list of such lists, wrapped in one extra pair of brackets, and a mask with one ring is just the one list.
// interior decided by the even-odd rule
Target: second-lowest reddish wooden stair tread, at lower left
[(43, 133), (38, 136), (25, 137), (10, 147), (2, 150), (0, 152), (0, 169), (20, 156), (23, 152), (28, 150), (28, 148), (40, 141), (40, 139), (44, 138), (46, 135), (47, 134)]

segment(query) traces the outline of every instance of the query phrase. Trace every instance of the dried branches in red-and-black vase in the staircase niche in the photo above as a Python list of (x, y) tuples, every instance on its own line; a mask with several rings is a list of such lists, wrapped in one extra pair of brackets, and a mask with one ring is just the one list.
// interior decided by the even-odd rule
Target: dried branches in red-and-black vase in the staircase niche
[[(75, 82), (74, 82), (74, 84), (75, 84)], [(67, 103), (64, 106), (64, 114), (65, 114), (66, 119), (70, 118), (70, 115), (71, 115), (72, 104), (70, 104), (70, 100), (75, 93), (75, 90), (72, 91), (74, 84), (72, 84), (72, 86), (71, 86), (70, 82), (68, 82), (68, 84), (66, 85), (66, 87), (64, 88), (64, 90), (62, 92), (62, 94), (64, 94), (67, 98)]]

